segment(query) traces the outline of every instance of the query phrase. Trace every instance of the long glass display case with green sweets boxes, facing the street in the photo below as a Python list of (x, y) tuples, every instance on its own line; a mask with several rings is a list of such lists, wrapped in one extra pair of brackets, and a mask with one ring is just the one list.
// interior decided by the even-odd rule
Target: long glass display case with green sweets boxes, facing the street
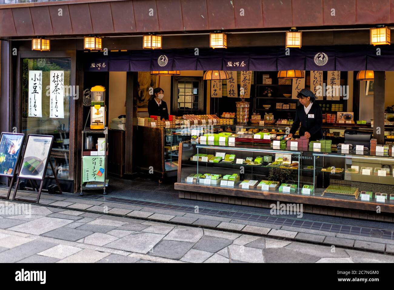
[(391, 146), (342, 148), (324, 140), (319, 146), (291, 147), (273, 146), (272, 138), (268, 144), (237, 140), (209, 144), (200, 137), (182, 142), (175, 189), (342, 209), (376, 211), (379, 206), (381, 212), (394, 212)]

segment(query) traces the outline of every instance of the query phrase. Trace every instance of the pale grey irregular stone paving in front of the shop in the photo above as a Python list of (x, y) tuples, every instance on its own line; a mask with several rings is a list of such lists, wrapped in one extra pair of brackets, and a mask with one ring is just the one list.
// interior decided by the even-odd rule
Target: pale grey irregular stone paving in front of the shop
[[(6, 200), (0, 204), (3, 210), (4, 205), (7, 209), (28, 205)], [(32, 204), (28, 216), (10, 211), (1, 215), (0, 262), (394, 262), (391, 254), (276, 238), (300, 234), (288, 230), (267, 228), (268, 235), (261, 236), (247, 234), (249, 229), (257, 232), (260, 228), (232, 221), (219, 223), (222, 228), (235, 228), (230, 231), (76, 208), (86, 206), (84, 203), (56, 204), (67, 206)], [(93, 206), (99, 209), (99, 205)], [(155, 215), (156, 220), (170, 219), (167, 214), (136, 209), (129, 213), (134, 211)], [(177, 217), (169, 216), (170, 221)]]

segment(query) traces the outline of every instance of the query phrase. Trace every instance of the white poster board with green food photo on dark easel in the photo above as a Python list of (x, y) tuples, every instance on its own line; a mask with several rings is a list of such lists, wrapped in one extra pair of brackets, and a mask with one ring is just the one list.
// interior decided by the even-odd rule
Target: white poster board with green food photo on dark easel
[(43, 180), (53, 136), (28, 135), (18, 177)]

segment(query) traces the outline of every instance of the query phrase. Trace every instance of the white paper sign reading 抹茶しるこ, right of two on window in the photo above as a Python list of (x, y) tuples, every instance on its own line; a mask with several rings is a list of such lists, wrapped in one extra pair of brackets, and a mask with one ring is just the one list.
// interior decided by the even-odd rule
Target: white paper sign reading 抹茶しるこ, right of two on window
[(64, 71), (50, 71), (49, 117), (64, 118)]

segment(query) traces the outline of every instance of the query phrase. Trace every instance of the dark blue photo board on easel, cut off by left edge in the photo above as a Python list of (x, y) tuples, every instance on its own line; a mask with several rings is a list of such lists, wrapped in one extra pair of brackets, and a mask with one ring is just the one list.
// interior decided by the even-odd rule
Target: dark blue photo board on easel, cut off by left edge
[(0, 137), (0, 175), (12, 177), (22, 150), (24, 134), (1, 133)]

